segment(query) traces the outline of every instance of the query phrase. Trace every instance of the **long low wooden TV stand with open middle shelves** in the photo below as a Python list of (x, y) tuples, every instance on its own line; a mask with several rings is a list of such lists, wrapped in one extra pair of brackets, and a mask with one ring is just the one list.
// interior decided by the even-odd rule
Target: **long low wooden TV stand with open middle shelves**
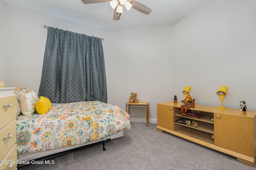
[(196, 105), (188, 110), (188, 117), (181, 115), (181, 105), (174, 102), (157, 104), (157, 130), (234, 156), (239, 162), (254, 166), (256, 111), (222, 110)]

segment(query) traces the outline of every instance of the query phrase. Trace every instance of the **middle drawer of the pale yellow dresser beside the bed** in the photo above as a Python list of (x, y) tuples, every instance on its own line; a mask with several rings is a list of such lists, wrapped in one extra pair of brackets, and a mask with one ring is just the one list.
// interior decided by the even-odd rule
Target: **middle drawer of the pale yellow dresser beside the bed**
[[(7, 138), (8, 134), (12, 136)], [(7, 139), (3, 140), (4, 138)], [(0, 160), (3, 160), (14, 144), (16, 145), (16, 119), (0, 130)]]

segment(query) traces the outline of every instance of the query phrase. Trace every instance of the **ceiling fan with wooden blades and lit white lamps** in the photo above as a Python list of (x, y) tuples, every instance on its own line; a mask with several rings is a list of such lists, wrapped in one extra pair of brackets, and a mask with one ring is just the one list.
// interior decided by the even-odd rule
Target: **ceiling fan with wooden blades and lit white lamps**
[(110, 2), (110, 6), (115, 9), (114, 10), (114, 16), (113, 20), (119, 20), (121, 14), (123, 13), (123, 6), (126, 7), (127, 10), (130, 10), (131, 8), (142, 12), (143, 14), (149, 14), (152, 10), (148, 7), (146, 7), (143, 4), (140, 4), (139, 2), (136, 2), (134, 0), (82, 0), (84, 4), (93, 4), (93, 3), (100, 3), (100, 2)]

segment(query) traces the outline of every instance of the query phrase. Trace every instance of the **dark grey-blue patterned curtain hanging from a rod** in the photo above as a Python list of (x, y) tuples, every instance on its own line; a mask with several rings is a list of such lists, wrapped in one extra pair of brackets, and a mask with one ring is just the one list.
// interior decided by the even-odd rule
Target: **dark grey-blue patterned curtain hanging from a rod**
[(102, 40), (48, 27), (38, 95), (52, 103), (107, 103)]

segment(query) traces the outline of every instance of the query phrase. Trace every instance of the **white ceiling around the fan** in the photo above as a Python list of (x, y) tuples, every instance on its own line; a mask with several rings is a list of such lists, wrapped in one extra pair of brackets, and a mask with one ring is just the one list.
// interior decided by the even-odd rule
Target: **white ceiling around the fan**
[(81, 0), (3, 0), (54, 16), (67, 18), (105, 30), (118, 30), (156, 24), (169, 24), (213, 0), (136, 0), (152, 9), (149, 15), (124, 9), (119, 21), (113, 21), (109, 2), (84, 4)]

